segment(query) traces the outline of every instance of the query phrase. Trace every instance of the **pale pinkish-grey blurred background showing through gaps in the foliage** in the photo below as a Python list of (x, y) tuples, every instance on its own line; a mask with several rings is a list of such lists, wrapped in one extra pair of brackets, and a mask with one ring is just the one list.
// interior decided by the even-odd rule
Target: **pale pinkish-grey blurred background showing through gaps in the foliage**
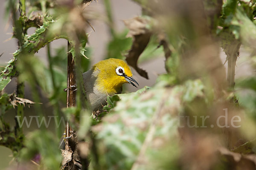
[[(111, 10), (113, 14), (113, 27), (116, 31), (116, 34), (127, 34), (128, 29), (125, 27), (125, 24), (123, 20), (131, 19), (137, 16), (142, 15), (142, 7), (137, 4), (136, 2), (132, 0), (111, 0)], [(12, 53), (14, 53), (18, 47), (17, 47), (17, 40), (15, 38), (12, 38), (12, 20), (11, 17), (6, 14), (6, 6), (7, 1), (1, 0), (0, 1), (0, 54), (3, 53), (3, 55), (0, 57), (0, 65), (6, 65), (6, 62), (8, 62), (10, 59), (13, 58)], [(100, 14), (101, 16), (107, 16), (105, 5), (102, 2), (102, 0), (99, 0), (99, 2), (93, 1), (90, 4), (90, 9), (92, 9), (95, 13)], [(90, 27), (86, 28), (87, 33), (89, 33), (88, 37), (88, 43), (87, 43), (87, 52), (86, 56), (90, 58), (89, 65), (92, 66), (96, 62), (105, 59), (107, 57), (109, 43), (113, 39), (109, 26), (106, 23), (105, 20), (91, 20), (91, 25), (93, 26), (94, 30)], [(27, 33), (33, 34), (35, 32), (35, 28), (29, 28)], [(124, 36), (123, 36), (124, 37)], [(120, 42), (118, 42), (120, 43)], [(59, 39), (54, 40), (51, 42), (51, 56), (60, 56), (63, 55), (64, 61), (66, 62), (66, 51), (67, 51), (67, 40)], [(38, 56), (40, 59), (40, 62), (42, 65), (45, 65), (45, 67), (49, 66), (49, 60), (47, 58), (47, 46), (44, 48), (41, 48), (38, 53), (35, 55)], [(123, 54), (124, 55), (124, 54)], [(165, 56), (163, 52), (163, 47), (156, 48), (155, 42), (152, 41), (152, 45), (143, 52), (142, 59), (139, 59), (139, 67), (147, 71), (148, 78), (145, 79), (144, 77), (141, 77), (133, 68), (133, 77), (137, 80), (137, 82), (140, 84), (139, 89), (144, 88), (144, 86), (153, 87), (157, 81), (157, 77), (161, 74), (166, 74), (165, 69)], [(222, 64), (225, 63), (226, 60), (226, 54), (224, 53), (223, 49), (220, 48), (220, 59)], [(255, 70), (253, 69), (250, 58), (250, 50), (248, 48), (243, 47), (243, 45), (240, 48), (239, 58), (236, 62), (236, 72), (235, 72), (235, 79), (239, 78), (245, 78), (250, 76), (255, 76)], [(192, 62), (190, 60), (190, 62)], [(61, 72), (60, 79), (66, 79), (67, 73), (64, 72), (66, 68), (65, 65), (62, 66), (62, 69), (59, 69), (59, 72)], [(85, 63), (85, 62), (84, 62)], [(89, 67), (84, 67), (84, 69), (88, 69)], [(224, 64), (224, 67), (226, 69), (227, 74), (227, 62)], [(183, 68), (184, 71), (190, 68)], [(85, 71), (85, 70), (84, 70)], [(223, 76), (223, 75), (222, 75)], [(12, 81), (6, 86), (4, 89), (4, 92), (11, 94), (15, 91), (16, 88), (16, 78), (13, 78)], [(58, 81), (58, 79), (56, 79)], [(56, 82), (58, 84), (58, 82)], [(60, 88), (65, 88), (65, 83), (62, 82), (61, 85), (59, 85)], [(46, 85), (49, 86), (49, 85)], [(135, 92), (137, 91), (137, 88), (134, 88), (131, 85), (125, 85), (124, 92)], [(63, 90), (59, 91), (61, 94), (59, 96), (59, 99), (62, 103), (62, 107), (65, 107), (65, 101), (66, 101), (66, 92)], [(246, 92), (243, 92), (246, 94)], [(41, 102), (42, 105), (42, 112), (45, 113), (47, 116), (54, 115), (53, 113), (53, 106), (48, 100), (47, 96), (44, 95), (43, 92), (40, 92)], [(33, 100), (32, 92), (29, 84), (25, 83), (25, 99)], [(35, 108), (32, 106), (30, 108), (26, 107), (24, 111), (24, 116), (36, 116), (38, 115), (36, 113)], [(15, 109), (10, 109), (5, 115), (4, 119), (9, 122), (11, 125), (15, 124), (15, 120), (12, 119), (15, 116)], [(24, 133), (27, 134), (29, 132), (32, 132), (33, 130), (37, 129), (36, 121), (32, 121), (32, 126), (30, 128), (23, 127)], [(49, 125), (50, 129), (54, 129), (54, 122)], [(64, 127), (61, 127), (61, 130), (64, 130)], [(6, 167), (9, 167), (9, 165), (17, 164), (12, 155), (12, 151), (8, 149), (7, 147), (0, 146), (0, 170), (5, 170)]]

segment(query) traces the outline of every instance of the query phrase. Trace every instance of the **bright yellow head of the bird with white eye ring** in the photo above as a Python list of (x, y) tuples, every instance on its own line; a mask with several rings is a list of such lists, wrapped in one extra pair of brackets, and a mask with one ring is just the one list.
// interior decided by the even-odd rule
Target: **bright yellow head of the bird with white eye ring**
[[(119, 93), (124, 83), (137, 87), (131, 69), (121, 59), (105, 59), (93, 65), (93, 73), (97, 75), (96, 85), (99, 91), (110, 95)], [(135, 84), (134, 84), (135, 83)]]

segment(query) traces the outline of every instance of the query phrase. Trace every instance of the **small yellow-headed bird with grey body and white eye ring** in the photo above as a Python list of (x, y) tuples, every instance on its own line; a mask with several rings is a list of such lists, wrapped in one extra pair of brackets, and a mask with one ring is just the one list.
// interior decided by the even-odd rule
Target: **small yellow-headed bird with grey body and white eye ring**
[(138, 82), (132, 77), (131, 69), (121, 59), (105, 59), (83, 73), (84, 88), (92, 111), (102, 111), (107, 104), (108, 96), (120, 94), (122, 85), (130, 83), (137, 86)]

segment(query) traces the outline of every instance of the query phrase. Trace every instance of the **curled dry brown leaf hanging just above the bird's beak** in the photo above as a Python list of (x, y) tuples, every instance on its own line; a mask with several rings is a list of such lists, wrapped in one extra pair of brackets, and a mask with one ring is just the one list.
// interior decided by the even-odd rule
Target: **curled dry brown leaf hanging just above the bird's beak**
[(148, 73), (139, 68), (137, 61), (140, 54), (144, 51), (151, 37), (151, 31), (148, 30), (147, 24), (149, 21), (142, 17), (135, 17), (129, 20), (124, 20), (125, 26), (130, 29), (128, 37), (133, 37), (133, 45), (131, 50), (126, 55), (126, 61), (131, 65), (142, 77), (148, 79)]

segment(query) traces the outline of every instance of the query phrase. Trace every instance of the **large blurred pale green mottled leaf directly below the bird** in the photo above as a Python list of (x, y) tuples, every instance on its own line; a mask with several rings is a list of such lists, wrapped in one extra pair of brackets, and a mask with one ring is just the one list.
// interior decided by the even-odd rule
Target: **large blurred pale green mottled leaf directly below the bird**
[[(105, 162), (102, 166), (110, 170), (131, 169), (148, 136), (152, 139), (144, 156), (154, 161), (152, 153), (163, 154), (164, 146), (169, 140), (177, 142), (177, 117), (172, 116), (172, 111), (182, 108), (181, 99), (191, 101), (196, 96), (202, 96), (202, 90), (200, 80), (189, 80), (185, 85), (176, 85), (170, 89), (157, 85), (155, 88), (145, 87), (130, 94), (119, 94), (120, 101), (116, 102), (116, 107), (104, 117), (101, 124), (103, 127), (97, 131), (98, 138), (106, 147), (100, 153), (101, 162)], [(160, 145), (154, 147), (154, 142), (160, 142)], [(178, 152), (177, 149), (176, 153)], [(172, 165), (169, 166), (177, 167), (177, 156), (178, 154), (172, 157)], [(167, 161), (169, 158), (163, 159)], [(138, 169), (154, 168), (150, 163), (143, 163)]]

